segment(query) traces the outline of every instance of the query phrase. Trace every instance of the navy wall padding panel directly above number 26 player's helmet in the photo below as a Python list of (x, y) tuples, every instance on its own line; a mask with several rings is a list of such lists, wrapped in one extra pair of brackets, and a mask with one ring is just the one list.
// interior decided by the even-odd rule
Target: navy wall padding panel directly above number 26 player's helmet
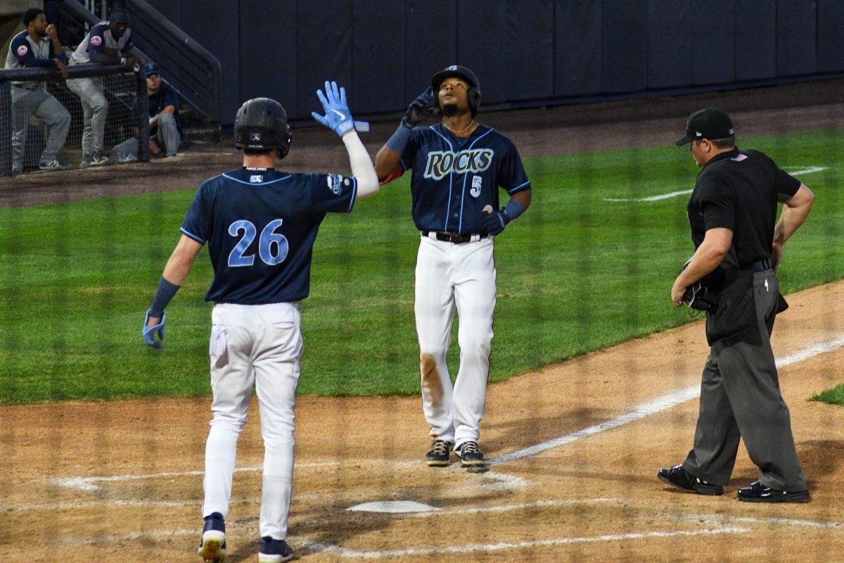
[(296, 115), (295, 3), (241, 0), (240, 31), (240, 101), (273, 98), (288, 115)]

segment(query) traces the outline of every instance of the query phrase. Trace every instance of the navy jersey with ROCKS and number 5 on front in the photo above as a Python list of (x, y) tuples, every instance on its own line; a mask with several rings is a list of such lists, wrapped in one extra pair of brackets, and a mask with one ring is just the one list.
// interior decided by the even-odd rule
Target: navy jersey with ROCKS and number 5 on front
[(498, 189), (514, 194), (530, 187), (522, 159), (509, 138), (479, 125), (460, 138), (442, 123), (415, 127), (399, 160), (413, 168), (410, 189), (419, 230), (486, 234), (481, 212), (499, 208)]

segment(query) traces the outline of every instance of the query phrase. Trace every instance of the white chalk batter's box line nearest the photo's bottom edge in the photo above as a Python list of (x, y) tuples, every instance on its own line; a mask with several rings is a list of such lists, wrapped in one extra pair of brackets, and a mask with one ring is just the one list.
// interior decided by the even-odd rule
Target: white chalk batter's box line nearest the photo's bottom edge
[(749, 528), (711, 528), (704, 530), (670, 531), (670, 532), (640, 532), (640, 533), (614, 533), (601, 536), (586, 536), (580, 538), (553, 538), (536, 539), (533, 541), (497, 544), (465, 544), (449, 545), (446, 547), (411, 547), (408, 549), (393, 549), (381, 551), (355, 551), (337, 545), (323, 544), (317, 542), (308, 543), (308, 547), (315, 552), (337, 555), (345, 559), (394, 559), (397, 557), (408, 557), (412, 555), (445, 555), (473, 553), (477, 551), (501, 551), (504, 549), (526, 549), (535, 547), (553, 547), (565, 544), (592, 544), (597, 542), (624, 541), (627, 539), (647, 538), (677, 538), (702, 535), (716, 535), (720, 533), (748, 533)]

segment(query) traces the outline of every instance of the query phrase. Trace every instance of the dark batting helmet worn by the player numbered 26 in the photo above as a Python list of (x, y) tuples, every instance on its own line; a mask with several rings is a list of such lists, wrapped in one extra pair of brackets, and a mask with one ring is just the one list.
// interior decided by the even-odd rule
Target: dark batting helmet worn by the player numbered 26
[(254, 98), (243, 102), (235, 116), (235, 147), (238, 149), (279, 149), (279, 158), (290, 148), (287, 112), (276, 100)]

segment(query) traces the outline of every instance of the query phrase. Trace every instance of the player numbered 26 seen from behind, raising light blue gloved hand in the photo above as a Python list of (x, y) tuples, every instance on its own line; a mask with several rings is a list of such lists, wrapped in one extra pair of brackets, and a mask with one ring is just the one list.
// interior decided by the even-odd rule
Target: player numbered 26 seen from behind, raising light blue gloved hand
[(343, 138), (353, 176), (276, 171), (276, 158), (284, 158), (290, 144), (287, 115), (274, 100), (246, 101), (235, 118), (243, 167), (199, 187), (143, 322), (146, 343), (163, 347), (165, 306), (208, 243), (214, 267), (205, 297), (214, 301), (208, 349), (214, 419), (205, 448), (205, 524), (199, 546), (206, 561), (225, 559), (237, 438), (246, 424), (253, 382), (265, 449), (258, 560), (293, 557), (285, 539), (302, 354), (298, 303), (309, 292), (311, 250), (322, 219), (327, 213), (348, 213), (356, 200), (378, 191), (344, 89), (336, 83), (326, 83), (325, 89), (324, 95), (317, 92), (325, 116), (313, 115)]

